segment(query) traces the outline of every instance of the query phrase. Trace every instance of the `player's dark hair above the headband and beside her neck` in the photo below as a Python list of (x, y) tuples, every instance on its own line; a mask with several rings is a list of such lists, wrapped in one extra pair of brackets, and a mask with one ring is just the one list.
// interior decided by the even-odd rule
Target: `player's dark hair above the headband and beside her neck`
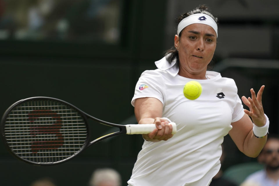
[[(210, 13), (209, 7), (206, 6), (206, 5), (200, 5), (200, 6), (198, 6), (197, 8), (195, 8), (195, 9), (189, 11), (189, 12), (186, 12), (186, 13), (180, 15), (180, 16), (177, 18), (177, 24), (179, 24), (180, 21), (181, 21), (182, 19), (184, 19), (185, 17), (188, 17), (188, 16), (193, 15), (193, 14), (198, 14), (198, 13), (202, 13), (202, 14), (209, 15), (210, 17), (212, 17), (212, 19), (214, 19), (214, 21), (215, 21), (216, 23), (218, 23), (217, 17), (214, 17), (214, 16)], [(181, 33), (182, 33), (182, 32), (179, 33), (179, 35), (178, 35), (179, 37), (181, 36)], [(168, 56), (167, 56), (167, 55), (168, 55)], [(165, 52), (165, 56), (166, 56), (166, 59), (167, 59), (167, 61), (168, 61), (169, 63), (171, 63), (173, 60), (176, 59), (176, 62), (177, 62), (176, 65), (177, 65), (177, 66), (179, 65), (178, 51), (176, 50), (175, 46), (172, 46), (171, 49), (167, 50), (167, 51)], [(213, 69), (213, 67), (214, 67), (214, 61), (211, 60), (210, 63), (207, 65), (207, 69), (208, 69), (208, 70), (209, 70), (209, 69)]]

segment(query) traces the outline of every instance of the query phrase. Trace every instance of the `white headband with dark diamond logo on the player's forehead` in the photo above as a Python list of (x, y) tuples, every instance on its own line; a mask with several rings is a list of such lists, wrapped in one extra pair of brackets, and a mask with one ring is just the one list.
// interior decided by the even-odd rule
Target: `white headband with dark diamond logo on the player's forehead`
[(218, 32), (217, 32), (218, 26), (216, 22), (214, 21), (214, 19), (212, 19), (212, 17), (206, 14), (192, 14), (182, 19), (177, 27), (177, 35), (179, 35), (179, 33), (183, 30), (183, 28), (194, 23), (207, 24), (211, 26), (216, 32), (216, 37), (218, 37)]

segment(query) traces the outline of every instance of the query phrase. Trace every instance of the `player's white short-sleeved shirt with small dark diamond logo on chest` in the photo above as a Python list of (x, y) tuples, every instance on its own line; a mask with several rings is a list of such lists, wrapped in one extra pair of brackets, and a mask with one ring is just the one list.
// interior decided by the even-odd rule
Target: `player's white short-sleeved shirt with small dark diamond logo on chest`
[(163, 117), (177, 125), (177, 133), (167, 141), (144, 141), (133, 173), (133, 186), (206, 186), (220, 169), (223, 137), (231, 123), (244, 115), (234, 80), (207, 71), (196, 100), (183, 94), (193, 79), (178, 75), (178, 68), (165, 58), (155, 62), (159, 69), (144, 71), (132, 99), (154, 97), (163, 104)]

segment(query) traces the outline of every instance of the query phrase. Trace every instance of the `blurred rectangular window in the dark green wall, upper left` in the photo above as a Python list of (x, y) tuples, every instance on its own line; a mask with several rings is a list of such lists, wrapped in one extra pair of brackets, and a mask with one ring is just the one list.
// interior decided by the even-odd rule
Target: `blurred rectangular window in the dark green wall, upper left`
[(115, 43), (120, 0), (0, 0), (0, 40)]

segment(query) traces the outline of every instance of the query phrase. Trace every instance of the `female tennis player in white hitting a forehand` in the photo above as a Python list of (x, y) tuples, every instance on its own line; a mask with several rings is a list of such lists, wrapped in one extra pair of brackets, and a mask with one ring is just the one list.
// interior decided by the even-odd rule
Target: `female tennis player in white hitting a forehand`
[[(238, 149), (256, 157), (266, 142), (269, 120), (262, 107), (264, 86), (251, 98), (242, 97), (235, 81), (207, 71), (217, 44), (217, 18), (199, 6), (179, 19), (174, 47), (144, 71), (132, 105), (139, 124), (157, 128), (143, 135), (129, 186), (206, 186), (220, 169), (223, 137), (230, 135)], [(195, 100), (183, 95), (188, 81), (203, 91)], [(252, 118), (253, 121), (249, 118)], [(172, 121), (177, 133), (171, 135)]]

